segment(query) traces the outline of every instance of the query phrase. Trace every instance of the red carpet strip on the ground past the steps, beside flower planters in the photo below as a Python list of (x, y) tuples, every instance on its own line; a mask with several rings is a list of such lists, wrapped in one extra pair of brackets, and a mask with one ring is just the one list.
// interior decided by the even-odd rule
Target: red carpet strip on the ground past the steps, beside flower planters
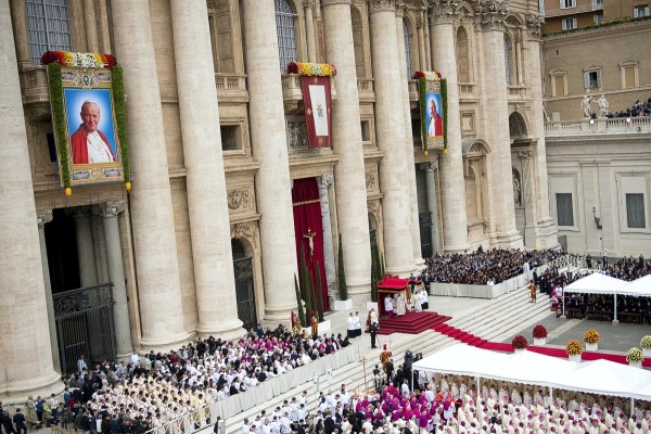
[[(490, 349), (493, 352), (502, 352), (502, 353), (513, 353), (513, 347), (511, 344), (507, 344), (503, 342), (489, 342), (483, 340), (474, 334), (464, 332), (463, 330), (457, 329), (449, 324), (439, 322), (436, 326), (431, 328), (438, 333), (445, 334), (448, 337), (452, 337), (459, 342), (463, 342), (464, 344), (476, 346), (482, 349)], [(552, 348), (549, 346), (529, 346), (527, 350), (544, 354), (546, 356), (559, 357), (562, 359), (567, 358), (567, 354), (564, 348)], [(598, 360), (604, 359), (614, 361), (622, 365), (627, 365), (626, 356), (617, 355), (617, 354), (605, 354), (605, 353), (596, 353), (596, 352), (584, 352), (582, 355), (582, 360)], [(651, 358), (646, 358), (642, 362), (644, 368), (651, 368)]]

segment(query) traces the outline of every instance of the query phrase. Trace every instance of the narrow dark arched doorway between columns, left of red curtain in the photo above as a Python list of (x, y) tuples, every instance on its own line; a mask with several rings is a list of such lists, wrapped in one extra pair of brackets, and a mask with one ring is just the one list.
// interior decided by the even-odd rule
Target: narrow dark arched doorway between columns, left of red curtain
[(235, 295), (238, 298), (238, 318), (246, 330), (257, 324), (255, 289), (253, 284), (253, 257), (246, 255), (239, 240), (231, 240), (233, 252), (233, 272), (235, 273)]

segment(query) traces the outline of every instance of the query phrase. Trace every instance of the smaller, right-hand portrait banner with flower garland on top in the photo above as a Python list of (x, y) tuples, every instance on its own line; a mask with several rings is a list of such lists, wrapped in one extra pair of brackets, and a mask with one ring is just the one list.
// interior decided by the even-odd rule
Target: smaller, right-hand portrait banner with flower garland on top
[(421, 113), (422, 148), (447, 153), (447, 81), (436, 72), (419, 71), (418, 80)]

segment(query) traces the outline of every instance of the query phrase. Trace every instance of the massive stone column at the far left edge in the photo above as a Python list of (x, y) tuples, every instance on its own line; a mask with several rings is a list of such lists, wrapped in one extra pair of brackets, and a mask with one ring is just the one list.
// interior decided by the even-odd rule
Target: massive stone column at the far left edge
[(63, 391), (52, 345), (9, 0), (0, 0), (0, 399)]

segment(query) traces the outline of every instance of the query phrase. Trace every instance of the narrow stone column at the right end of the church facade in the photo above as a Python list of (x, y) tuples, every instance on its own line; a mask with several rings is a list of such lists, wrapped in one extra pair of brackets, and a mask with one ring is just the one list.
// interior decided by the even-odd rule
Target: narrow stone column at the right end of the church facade
[(540, 22), (538, 14), (526, 16), (527, 35), (525, 62), (528, 87), (532, 89), (532, 117), (529, 136), (536, 140), (535, 170), (536, 180), (536, 243), (540, 248), (559, 245), (557, 227), (549, 215), (549, 190), (547, 181), (547, 154), (545, 151), (545, 116), (542, 113), (542, 78), (540, 67)]

